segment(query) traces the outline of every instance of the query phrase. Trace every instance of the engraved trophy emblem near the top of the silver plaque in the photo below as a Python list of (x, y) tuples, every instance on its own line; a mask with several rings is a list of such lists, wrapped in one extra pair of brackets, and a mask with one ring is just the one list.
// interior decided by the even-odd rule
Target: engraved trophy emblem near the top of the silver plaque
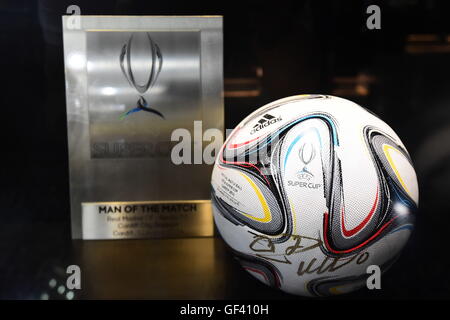
[[(124, 112), (120, 116), (121, 119), (141, 110), (157, 114), (164, 119), (161, 112), (148, 106), (147, 100), (143, 96), (158, 79), (162, 63), (161, 50), (147, 32), (133, 33), (127, 43), (123, 45), (120, 53), (120, 68), (128, 83), (139, 93), (139, 100), (137, 107)], [(136, 68), (136, 66), (138, 67)], [(144, 76), (142, 77), (142, 75)], [(144, 78), (144, 81), (140, 82), (139, 76)]]

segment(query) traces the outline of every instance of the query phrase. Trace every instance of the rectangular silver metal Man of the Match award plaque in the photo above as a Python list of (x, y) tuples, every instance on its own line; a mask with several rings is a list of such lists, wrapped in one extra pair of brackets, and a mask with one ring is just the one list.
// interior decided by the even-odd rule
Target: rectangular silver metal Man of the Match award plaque
[(171, 151), (176, 129), (223, 131), (222, 17), (64, 16), (63, 30), (72, 237), (211, 236), (211, 165)]

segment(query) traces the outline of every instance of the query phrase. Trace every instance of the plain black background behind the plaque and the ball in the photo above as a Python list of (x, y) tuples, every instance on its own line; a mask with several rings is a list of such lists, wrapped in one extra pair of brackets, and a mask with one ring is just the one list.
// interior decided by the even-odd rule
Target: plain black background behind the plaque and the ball
[[(374, 3), (381, 7), (381, 30), (366, 28), (365, 10)], [(39, 273), (53, 259), (70, 256), (61, 32), (61, 15), (70, 4), (84, 15), (223, 15), (225, 90), (236, 89), (227, 79), (256, 79), (256, 70), (263, 70), (257, 96), (226, 94), (226, 128), (268, 102), (303, 93), (335, 94), (378, 114), (413, 158), (420, 211), (383, 290), (346, 297), (450, 297), (446, 1), (11, 0), (0, 2), (0, 298), (35, 297)], [(426, 37), (414, 40), (417, 34)], [(425, 49), (417, 53), (414, 46)], [(235, 264), (230, 268), (235, 278), (229, 298), (293, 298), (257, 283)]]

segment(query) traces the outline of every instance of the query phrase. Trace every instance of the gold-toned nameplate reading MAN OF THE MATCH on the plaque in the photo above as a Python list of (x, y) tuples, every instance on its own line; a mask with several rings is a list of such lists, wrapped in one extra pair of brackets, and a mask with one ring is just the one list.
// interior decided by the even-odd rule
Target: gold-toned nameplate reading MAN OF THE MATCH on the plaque
[(214, 234), (210, 200), (85, 202), (81, 239), (209, 237)]

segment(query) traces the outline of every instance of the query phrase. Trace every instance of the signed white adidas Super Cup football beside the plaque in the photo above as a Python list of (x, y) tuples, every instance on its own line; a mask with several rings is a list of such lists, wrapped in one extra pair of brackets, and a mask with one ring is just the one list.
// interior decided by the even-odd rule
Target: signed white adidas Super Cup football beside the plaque
[(416, 174), (395, 132), (357, 104), (294, 96), (244, 119), (212, 175), (214, 219), (242, 266), (324, 296), (386, 270), (412, 230)]

